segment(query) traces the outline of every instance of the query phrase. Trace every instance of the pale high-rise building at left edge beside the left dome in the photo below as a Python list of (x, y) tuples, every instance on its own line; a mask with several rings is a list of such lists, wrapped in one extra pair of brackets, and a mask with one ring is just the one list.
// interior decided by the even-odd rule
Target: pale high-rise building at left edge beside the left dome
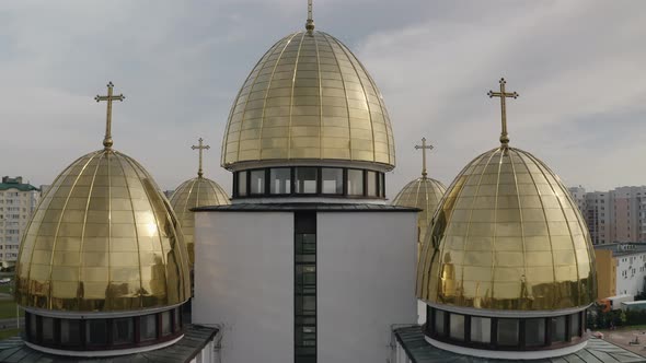
[(30, 216), (38, 206), (41, 190), (22, 176), (3, 176), (0, 183), (0, 261), (13, 266), (18, 259), (20, 241)]

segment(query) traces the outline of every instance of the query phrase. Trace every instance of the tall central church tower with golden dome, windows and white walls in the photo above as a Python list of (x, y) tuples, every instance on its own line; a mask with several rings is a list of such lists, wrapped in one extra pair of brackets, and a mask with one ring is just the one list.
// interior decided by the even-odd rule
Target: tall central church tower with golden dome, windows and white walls
[(230, 363), (383, 362), (392, 325), (416, 321), (417, 210), (385, 203), (385, 104), (309, 10), (231, 107), (232, 203), (195, 210), (193, 321)]

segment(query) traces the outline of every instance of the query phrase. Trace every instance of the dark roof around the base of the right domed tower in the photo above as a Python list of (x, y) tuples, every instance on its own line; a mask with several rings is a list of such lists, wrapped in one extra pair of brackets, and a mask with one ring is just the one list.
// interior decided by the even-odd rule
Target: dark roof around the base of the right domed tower
[[(461, 355), (435, 348), (424, 339), (419, 326), (395, 329), (399, 343), (406, 351), (406, 355), (413, 363), (492, 363), (511, 362), (508, 360), (484, 359)], [(527, 361), (531, 363), (633, 363), (646, 362), (646, 358), (639, 356), (623, 348), (614, 346), (602, 339), (590, 338), (588, 346), (576, 353), (543, 360)]]

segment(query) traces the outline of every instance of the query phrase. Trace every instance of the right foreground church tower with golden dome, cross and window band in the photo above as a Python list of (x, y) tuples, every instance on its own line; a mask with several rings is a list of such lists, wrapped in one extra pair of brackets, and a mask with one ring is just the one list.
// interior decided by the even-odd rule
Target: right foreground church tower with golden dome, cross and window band
[(451, 352), (549, 359), (586, 346), (585, 311), (597, 296), (588, 229), (552, 169), (509, 145), (500, 97), (500, 145), (455, 177), (426, 235), (417, 297), (426, 340)]

